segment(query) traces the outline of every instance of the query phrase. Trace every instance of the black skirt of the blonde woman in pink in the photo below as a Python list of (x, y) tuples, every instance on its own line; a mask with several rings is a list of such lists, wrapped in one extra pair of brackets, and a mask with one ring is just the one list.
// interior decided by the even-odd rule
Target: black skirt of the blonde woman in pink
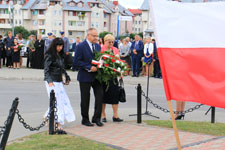
[(119, 87), (117, 78), (110, 80), (109, 89), (103, 84), (103, 104), (119, 104)]

